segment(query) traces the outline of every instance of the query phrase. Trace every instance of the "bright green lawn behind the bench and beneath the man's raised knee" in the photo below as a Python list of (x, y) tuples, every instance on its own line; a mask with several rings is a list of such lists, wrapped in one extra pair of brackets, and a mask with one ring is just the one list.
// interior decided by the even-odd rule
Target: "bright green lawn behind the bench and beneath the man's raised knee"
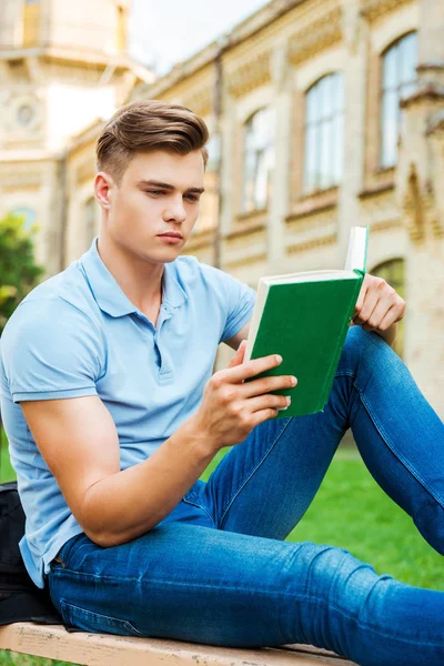
[[(226, 450), (202, 475), (206, 480)], [(379, 574), (444, 591), (442, 556), (417, 533), (412, 519), (377, 486), (355, 450), (340, 448), (322, 486), (289, 541), (312, 541), (349, 549)], [(68, 666), (0, 650), (1, 666)]]

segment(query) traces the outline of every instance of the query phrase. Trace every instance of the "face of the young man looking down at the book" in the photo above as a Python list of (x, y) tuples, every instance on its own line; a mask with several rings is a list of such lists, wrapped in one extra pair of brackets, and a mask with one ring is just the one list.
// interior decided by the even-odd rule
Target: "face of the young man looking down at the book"
[(103, 233), (134, 259), (173, 261), (198, 218), (203, 176), (200, 150), (186, 155), (137, 153), (121, 183), (111, 181)]

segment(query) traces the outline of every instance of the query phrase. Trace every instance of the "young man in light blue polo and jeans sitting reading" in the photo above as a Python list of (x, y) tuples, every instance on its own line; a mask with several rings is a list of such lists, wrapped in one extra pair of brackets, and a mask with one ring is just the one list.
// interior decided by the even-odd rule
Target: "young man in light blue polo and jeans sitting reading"
[[(280, 363), (243, 363), (253, 290), (179, 256), (206, 140), (178, 105), (115, 113), (98, 141), (98, 241), (4, 330), (1, 411), (26, 566), (64, 620), (91, 632), (442, 664), (443, 593), (283, 541), (352, 427), (376, 481), (444, 553), (444, 425), (390, 346), (404, 303), (367, 276), (325, 411), (272, 418), (285, 398), (270, 392), (295, 380), (243, 382)], [(236, 353), (212, 375), (221, 341)]]

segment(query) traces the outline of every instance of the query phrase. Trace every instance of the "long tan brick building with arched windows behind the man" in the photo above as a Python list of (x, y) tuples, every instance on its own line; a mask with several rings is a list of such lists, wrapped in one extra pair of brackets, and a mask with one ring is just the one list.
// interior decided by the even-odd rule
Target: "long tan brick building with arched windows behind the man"
[[(397, 351), (444, 416), (443, 3), (272, 0), (130, 88), (129, 100), (179, 102), (208, 122), (206, 192), (186, 252), (255, 286), (341, 268), (350, 226), (371, 226), (369, 271), (407, 302)], [(64, 218), (47, 221), (61, 230), (63, 265), (98, 229), (101, 124), (65, 144)]]

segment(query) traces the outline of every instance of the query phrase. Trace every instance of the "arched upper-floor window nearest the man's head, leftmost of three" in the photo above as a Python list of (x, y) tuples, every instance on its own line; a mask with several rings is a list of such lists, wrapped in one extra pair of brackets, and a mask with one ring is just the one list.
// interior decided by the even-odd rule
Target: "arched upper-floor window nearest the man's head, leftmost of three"
[(242, 211), (263, 210), (274, 164), (274, 111), (261, 109), (245, 123)]

